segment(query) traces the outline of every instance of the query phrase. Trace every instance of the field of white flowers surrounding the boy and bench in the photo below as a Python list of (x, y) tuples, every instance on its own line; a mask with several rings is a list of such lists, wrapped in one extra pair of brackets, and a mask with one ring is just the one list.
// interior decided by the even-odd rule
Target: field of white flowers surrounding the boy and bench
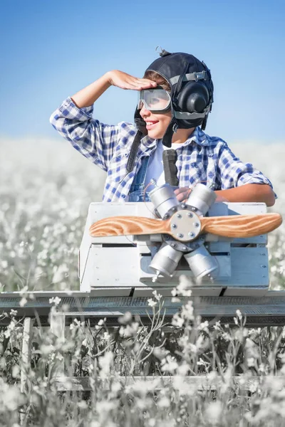
[[(279, 196), (271, 211), (284, 214), (284, 145), (232, 149), (269, 176)], [(103, 181), (103, 172), (60, 138), (0, 139), (2, 291), (78, 289), (78, 246), (88, 204), (100, 201)], [(284, 226), (271, 233), (269, 248), (271, 288), (284, 289)], [(189, 292), (185, 286), (180, 283), (180, 295)], [(147, 328), (128, 315), (118, 331), (104, 320), (93, 328), (76, 320), (65, 340), (34, 328), (25, 393), (19, 387), (22, 322), (7, 313), (11, 323), (0, 331), (0, 425), (18, 427), (21, 419), (44, 427), (284, 426), (285, 330), (247, 329), (240, 312), (232, 329), (201, 323), (188, 302), (163, 332), (160, 295), (152, 305)], [(56, 391), (63, 359), (66, 376), (90, 377), (90, 392)], [(212, 387), (187, 384), (186, 376), (199, 374)], [(127, 381), (133, 375), (155, 379)], [(257, 381), (246, 386), (252, 377)]]

